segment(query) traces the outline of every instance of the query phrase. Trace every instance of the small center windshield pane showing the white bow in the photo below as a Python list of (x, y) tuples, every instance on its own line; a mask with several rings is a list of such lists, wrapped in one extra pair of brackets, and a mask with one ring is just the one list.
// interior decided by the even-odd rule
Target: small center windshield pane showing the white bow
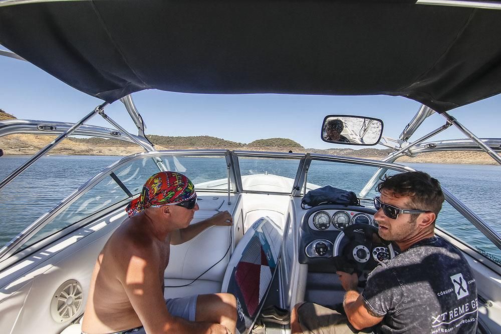
[[(244, 191), (290, 194), (300, 159), (239, 157), (238, 165)], [(253, 177), (249, 177), (249, 176)]]

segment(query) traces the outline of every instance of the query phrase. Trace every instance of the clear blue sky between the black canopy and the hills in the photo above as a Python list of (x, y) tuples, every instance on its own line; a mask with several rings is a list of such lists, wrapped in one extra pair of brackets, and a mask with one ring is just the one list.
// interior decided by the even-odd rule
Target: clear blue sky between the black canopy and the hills
[[(384, 135), (398, 138), (420, 107), (418, 102), (390, 96), (210, 95), (149, 90), (135, 93), (133, 99), (145, 120), (147, 134), (208, 135), (242, 143), (283, 137), (306, 148), (324, 149), (342, 147), (320, 139), (321, 123), (326, 115), (381, 118)], [(0, 108), (17, 118), (76, 122), (100, 103), (101, 100), (71, 88), (32, 64), (0, 56)], [(106, 113), (127, 130), (137, 133), (122, 103), (108, 106)], [(479, 137), (501, 137), (501, 95), (449, 113)], [(100, 116), (89, 123), (111, 127)], [(411, 140), (444, 123), (440, 115), (429, 117)], [(449, 128), (435, 138), (464, 137), (458, 130)]]

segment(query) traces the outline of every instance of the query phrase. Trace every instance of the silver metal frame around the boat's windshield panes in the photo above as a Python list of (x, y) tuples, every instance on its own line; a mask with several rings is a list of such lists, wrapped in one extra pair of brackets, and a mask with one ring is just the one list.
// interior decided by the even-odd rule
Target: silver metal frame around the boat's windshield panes
[[(362, 158), (352, 158), (352, 157), (344, 157), (344, 156), (334, 156), (334, 155), (323, 155), (323, 154), (310, 154), (310, 153), (284, 153), (284, 152), (254, 152), (254, 151), (229, 151), (229, 150), (173, 150), (173, 151), (152, 151), (152, 152), (142, 152), (133, 154), (127, 157), (120, 159), (119, 161), (111, 164), (110, 166), (103, 169), (101, 172), (96, 174), (89, 181), (80, 186), (76, 191), (66, 197), (63, 201), (61, 201), (56, 207), (54, 207), (50, 212), (45, 213), (40, 218), (38, 218), (35, 222), (33, 222), (30, 226), (25, 228), (21, 233), (19, 233), (14, 239), (12, 239), (5, 247), (0, 249), (0, 268), (3, 267), (5, 260), (11, 257), (11, 255), (16, 254), (16, 251), (34, 234), (36, 234), (40, 229), (50, 223), (56, 216), (58, 216), (61, 212), (63, 212), (68, 206), (70, 206), (73, 202), (75, 202), (78, 198), (80, 198), (83, 194), (85, 194), (88, 190), (92, 189), (95, 185), (97, 185), (101, 180), (105, 177), (110, 176), (111, 173), (118, 170), (119, 168), (125, 166), (126, 164), (131, 163), (134, 160), (145, 159), (145, 158), (161, 158), (168, 156), (224, 156), (227, 163), (228, 168), (228, 179), (232, 184), (232, 190), (228, 190), (228, 198), (230, 194), (239, 194), (239, 193), (261, 193), (261, 194), (271, 194), (269, 191), (259, 191), (259, 190), (243, 190), (242, 189), (242, 181), (241, 175), (238, 165), (239, 157), (252, 157), (252, 158), (274, 158), (274, 159), (299, 159), (298, 171), (296, 173), (296, 178), (294, 180), (294, 186), (291, 189), (290, 193), (278, 193), (280, 195), (290, 195), (292, 197), (301, 197), (303, 195), (302, 188), (305, 185), (305, 180), (307, 181), (308, 169), (313, 160), (319, 161), (327, 161), (327, 162), (339, 162), (339, 163), (348, 163), (355, 165), (365, 165), (372, 166), (378, 168), (386, 168), (390, 170), (395, 170), (398, 172), (407, 172), (414, 171), (413, 168), (403, 166), (396, 163), (378, 161), (378, 160), (368, 160)], [(499, 249), (501, 249), (501, 237), (497, 232), (495, 232), (486, 222), (484, 222), (480, 217), (478, 217), (473, 211), (471, 211), (466, 205), (464, 205), (461, 201), (459, 201), (456, 197), (454, 197), (449, 191), (444, 190), (444, 195), (446, 201), (451, 204), (461, 215), (463, 215), (475, 228), (477, 228), (482, 234), (484, 234), (494, 245), (496, 245)], [(203, 192), (218, 192), (214, 190), (197, 190), (201, 193)], [(224, 192), (219, 190), (219, 192)], [(133, 197), (135, 197), (133, 195)], [(129, 199), (133, 198), (129, 197)], [(125, 205), (124, 203), (128, 202), (127, 199), (123, 200), (119, 203), (115, 203), (106, 210), (96, 212), (89, 217), (97, 217), (101, 214), (107, 214), (113, 210), (116, 210), (120, 205)], [(71, 231), (74, 231), (81, 226), (87, 224), (89, 222), (89, 217), (82, 219), (79, 222), (76, 222), (73, 225), (68, 227), (71, 228), (63, 228), (58, 232), (54, 233), (50, 237), (40, 240), (34, 245), (27, 247), (22, 252), (23, 256), (26, 256), (29, 253), (32, 253), (36, 249), (47, 245), (50, 242), (53, 242), (57, 238), (60, 238)], [(21, 255), (21, 254), (20, 254)], [(4, 262), (4, 263), (3, 263)], [(10, 262), (10, 261), (8, 261)]]

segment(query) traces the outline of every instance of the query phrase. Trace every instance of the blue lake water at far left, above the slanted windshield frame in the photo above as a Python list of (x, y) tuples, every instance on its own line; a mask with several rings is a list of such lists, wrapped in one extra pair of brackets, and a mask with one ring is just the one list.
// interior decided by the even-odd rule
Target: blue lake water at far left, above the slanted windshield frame
[[(0, 179), (7, 177), (31, 156), (5, 155), (0, 158)], [(117, 156), (44, 156), (4, 188), (0, 189), (0, 248), (49, 212), (64, 198)], [(7, 213), (7, 214), (6, 214)]]

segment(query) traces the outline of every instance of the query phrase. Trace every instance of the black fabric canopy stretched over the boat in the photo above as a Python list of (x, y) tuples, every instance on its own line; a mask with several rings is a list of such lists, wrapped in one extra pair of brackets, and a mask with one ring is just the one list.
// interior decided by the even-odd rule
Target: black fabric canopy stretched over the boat
[[(9, 6), (6, 6), (9, 5)], [(501, 11), (409, 1), (0, 2), (0, 44), (89, 95), (501, 92)]]

